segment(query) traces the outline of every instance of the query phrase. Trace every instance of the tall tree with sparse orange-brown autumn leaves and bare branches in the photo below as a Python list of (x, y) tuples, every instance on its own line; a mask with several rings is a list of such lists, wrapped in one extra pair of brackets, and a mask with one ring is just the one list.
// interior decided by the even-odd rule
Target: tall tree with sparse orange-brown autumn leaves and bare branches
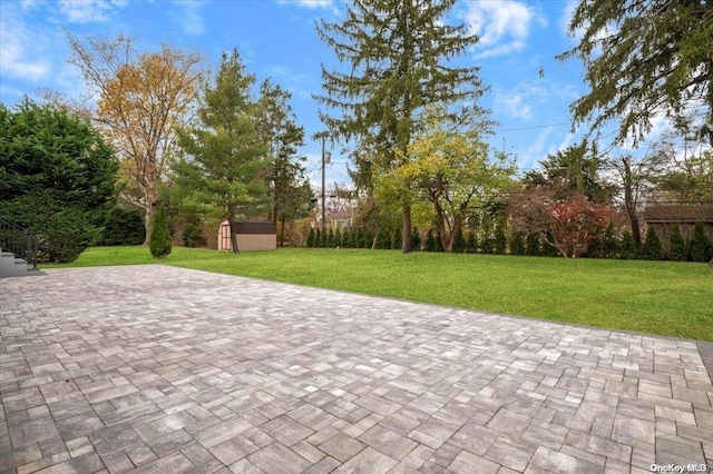
[[(139, 52), (123, 34), (114, 39), (68, 34), (69, 62), (82, 75), (87, 103), (79, 105), (101, 125), (121, 162), (125, 198), (145, 210), (148, 244), (158, 187), (175, 152), (176, 130), (186, 124), (204, 71), (197, 53), (163, 46)], [(91, 101), (96, 99), (96, 108)]]

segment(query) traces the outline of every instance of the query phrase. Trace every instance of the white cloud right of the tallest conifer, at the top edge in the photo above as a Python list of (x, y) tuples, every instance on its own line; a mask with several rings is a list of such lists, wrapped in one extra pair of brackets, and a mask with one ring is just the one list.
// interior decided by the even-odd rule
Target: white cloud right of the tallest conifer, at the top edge
[(466, 23), (477, 33), (477, 58), (519, 52), (526, 46), (533, 23), (547, 26), (547, 18), (525, 2), (477, 0), (468, 3)]

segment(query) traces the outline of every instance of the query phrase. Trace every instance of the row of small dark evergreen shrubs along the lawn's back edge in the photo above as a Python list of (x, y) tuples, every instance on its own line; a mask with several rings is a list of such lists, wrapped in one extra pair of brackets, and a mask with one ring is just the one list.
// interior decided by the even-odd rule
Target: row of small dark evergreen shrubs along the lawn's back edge
[[(443, 251), (438, 233), (430, 229), (424, 241), (421, 241), (420, 233), (413, 229), (411, 241), (414, 250)], [(378, 233), (364, 229), (310, 229), (306, 240), (307, 247), (322, 248), (377, 248), (400, 249), (401, 229), (381, 229)], [(536, 234), (521, 231), (511, 233), (509, 239), (498, 226), (492, 233), (479, 236), (475, 230), (461, 230), (453, 243), (455, 253), (466, 254), (494, 254), (494, 255), (521, 255), (521, 256), (559, 256), (558, 250)], [(668, 250), (664, 253), (664, 246), (658, 234), (653, 227), (648, 228), (641, 248), (636, 248), (634, 238), (628, 230), (617, 237), (613, 225), (605, 228), (589, 246), (584, 257), (590, 258), (622, 258), (622, 259), (671, 259), (676, 261), (710, 261), (713, 258), (713, 243), (705, 231), (705, 226), (696, 224), (686, 240), (681, 228), (674, 225), (668, 241)]]

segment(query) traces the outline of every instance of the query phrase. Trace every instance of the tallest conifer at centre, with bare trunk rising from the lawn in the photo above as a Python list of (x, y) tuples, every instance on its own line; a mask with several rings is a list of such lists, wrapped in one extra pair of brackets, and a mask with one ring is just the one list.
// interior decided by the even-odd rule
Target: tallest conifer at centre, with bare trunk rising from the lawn
[[(469, 105), (452, 110), (452, 120), (484, 116), (476, 105), (485, 91), (479, 68), (451, 62), (478, 41), (463, 24), (447, 23), (455, 3), (354, 0), (343, 22), (318, 26), (320, 38), (349, 68), (348, 72), (322, 68), (326, 95), (316, 99), (329, 108), (322, 120), (331, 132), (358, 145), (352, 154), (358, 186), (370, 189), (373, 174), (408, 158), (407, 147), (420, 128), (419, 112), (426, 105)], [(411, 203), (403, 196), (399, 204), (401, 250), (410, 251)]]

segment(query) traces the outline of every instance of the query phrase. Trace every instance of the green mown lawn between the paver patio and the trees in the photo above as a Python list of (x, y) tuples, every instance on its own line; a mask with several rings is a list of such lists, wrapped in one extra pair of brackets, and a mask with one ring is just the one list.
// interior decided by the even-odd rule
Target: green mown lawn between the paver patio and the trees
[(565, 323), (713, 340), (713, 271), (705, 264), (279, 249), (229, 254), (174, 247), (94, 247), (42, 268), (174, 265)]

